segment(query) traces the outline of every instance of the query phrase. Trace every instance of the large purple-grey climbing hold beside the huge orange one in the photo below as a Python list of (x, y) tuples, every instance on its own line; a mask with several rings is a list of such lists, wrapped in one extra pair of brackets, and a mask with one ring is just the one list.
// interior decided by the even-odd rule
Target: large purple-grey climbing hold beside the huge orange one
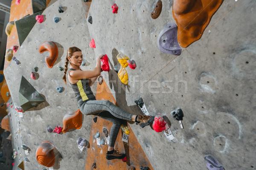
[(181, 48), (177, 40), (177, 26), (175, 23), (169, 23), (163, 27), (158, 36), (157, 45), (160, 51), (164, 53), (173, 55), (181, 54)]

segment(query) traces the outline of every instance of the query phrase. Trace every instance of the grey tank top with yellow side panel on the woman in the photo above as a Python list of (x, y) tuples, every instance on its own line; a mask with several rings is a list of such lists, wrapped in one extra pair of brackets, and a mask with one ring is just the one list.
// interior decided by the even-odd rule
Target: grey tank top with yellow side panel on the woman
[[(75, 69), (70, 68), (68, 70), (68, 73), (70, 70), (75, 70)], [(70, 83), (71, 87), (73, 88), (73, 91), (75, 92), (76, 100), (78, 102), (87, 101), (87, 100), (96, 100), (90, 88), (89, 81), (90, 81), (89, 79), (79, 79), (79, 81), (76, 84)]]

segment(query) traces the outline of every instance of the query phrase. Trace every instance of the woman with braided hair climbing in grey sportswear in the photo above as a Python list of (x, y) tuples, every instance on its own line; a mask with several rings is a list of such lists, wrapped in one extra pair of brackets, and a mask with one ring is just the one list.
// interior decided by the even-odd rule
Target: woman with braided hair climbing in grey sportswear
[[(96, 58), (96, 66), (93, 71), (82, 71), (80, 69), (80, 65), (83, 61), (82, 52), (77, 47), (70, 47), (67, 51), (64, 77), (62, 79), (67, 83), (66, 74), (68, 73), (68, 80), (75, 92), (79, 109), (84, 115), (96, 115), (113, 123), (109, 134), (110, 141), (108, 144), (106, 159), (123, 159), (125, 154), (114, 150), (114, 144), (116, 142), (119, 128), (122, 125), (122, 121), (133, 121), (141, 127), (145, 127), (153, 122), (154, 116), (133, 115), (122, 110), (108, 100), (96, 100), (90, 86), (93, 85), (102, 71), (100, 65), (100, 59), (102, 56), (103, 55), (99, 55), (99, 57)], [(67, 72), (67, 65), (69, 62), (70, 69)]]

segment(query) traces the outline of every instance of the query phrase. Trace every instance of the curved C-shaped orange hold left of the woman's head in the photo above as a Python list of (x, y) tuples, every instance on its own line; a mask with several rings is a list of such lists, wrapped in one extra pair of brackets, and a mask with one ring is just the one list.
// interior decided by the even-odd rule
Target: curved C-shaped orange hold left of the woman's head
[(40, 45), (39, 52), (49, 51), (49, 56), (45, 57), (45, 61), (49, 68), (53, 67), (54, 62), (58, 57), (58, 47), (52, 41), (45, 41)]

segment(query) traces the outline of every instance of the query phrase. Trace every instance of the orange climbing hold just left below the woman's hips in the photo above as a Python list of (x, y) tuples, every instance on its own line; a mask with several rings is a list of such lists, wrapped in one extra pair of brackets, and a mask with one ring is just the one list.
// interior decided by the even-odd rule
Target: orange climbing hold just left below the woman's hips
[(76, 112), (67, 113), (63, 117), (62, 132), (66, 133), (70, 129), (80, 129), (82, 127), (82, 113), (80, 109)]

